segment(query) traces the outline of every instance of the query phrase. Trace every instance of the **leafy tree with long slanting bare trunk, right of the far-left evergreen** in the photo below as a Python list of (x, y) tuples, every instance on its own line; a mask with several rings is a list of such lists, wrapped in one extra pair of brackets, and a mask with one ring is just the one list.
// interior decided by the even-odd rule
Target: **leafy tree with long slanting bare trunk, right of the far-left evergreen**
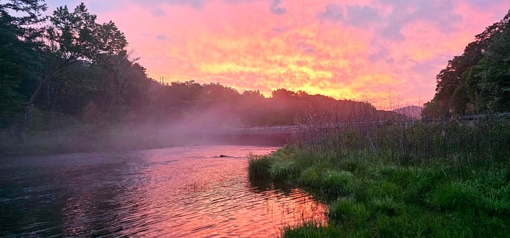
[(30, 118), (32, 107), (39, 91), (48, 81), (55, 79), (57, 72), (79, 61), (112, 66), (113, 58), (126, 55), (127, 41), (115, 23), (96, 23), (95, 14), (90, 14), (84, 3), (69, 12), (67, 6), (57, 8), (50, 17), (46, 30), (48, 44), (39, 48), (44, 55), (44, 70), (37, 77), (37, 86), (26, 103), (21, 123), (17, 127), (17, 138), (23, 141), (23, 128)]

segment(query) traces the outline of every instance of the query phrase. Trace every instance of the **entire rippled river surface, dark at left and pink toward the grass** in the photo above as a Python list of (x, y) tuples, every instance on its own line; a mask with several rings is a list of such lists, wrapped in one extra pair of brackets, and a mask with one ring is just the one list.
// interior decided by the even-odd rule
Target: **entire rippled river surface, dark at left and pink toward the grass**
[(0, 158), (0, 237), (278, 237), (285, 226), (325, 222), (327, 208), (302, 190), (249, 181), (247, 155), (273, 150)]

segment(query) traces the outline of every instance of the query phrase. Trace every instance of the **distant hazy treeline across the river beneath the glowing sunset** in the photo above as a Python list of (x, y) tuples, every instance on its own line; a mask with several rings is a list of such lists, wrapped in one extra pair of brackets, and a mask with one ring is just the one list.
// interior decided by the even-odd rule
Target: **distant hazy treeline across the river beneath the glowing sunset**
[(396, 116), (370, 103), (308, 95), (283, 88), (266, 98), (258, 90), (239, 93), (219, 83), (173, 82), (153, 89), (149, 112), (158, 123), (191, 119), (206, 128), (372, 121)]

